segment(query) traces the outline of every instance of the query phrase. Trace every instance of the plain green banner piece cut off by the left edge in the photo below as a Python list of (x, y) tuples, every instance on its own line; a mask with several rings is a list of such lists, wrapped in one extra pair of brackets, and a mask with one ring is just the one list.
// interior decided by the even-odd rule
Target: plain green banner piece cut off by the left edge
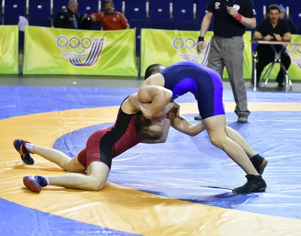
[(0, 26), (0, 74), (19, 74), (19, 27)]

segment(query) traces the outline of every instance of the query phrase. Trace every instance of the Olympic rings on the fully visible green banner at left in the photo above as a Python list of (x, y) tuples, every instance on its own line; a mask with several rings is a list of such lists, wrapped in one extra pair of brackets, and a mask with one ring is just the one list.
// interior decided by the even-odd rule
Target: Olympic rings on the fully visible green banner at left
[(76, 53), (83, 53), (86, 49), (89, 49), (92, 42), (89, 38), (85, 37), (80, 40), (77, 37), (71, 37), (69, 40), (65, 36), (60, 36), (57, 39), (57, 45), (64, 50), (66, 53), (70, 53), (73, 50)]

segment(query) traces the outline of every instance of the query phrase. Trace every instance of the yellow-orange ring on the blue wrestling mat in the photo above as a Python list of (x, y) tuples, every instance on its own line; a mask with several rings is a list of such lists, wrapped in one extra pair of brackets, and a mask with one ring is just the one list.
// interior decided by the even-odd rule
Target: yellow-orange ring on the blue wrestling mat
[[(182, 103), (181, 114), (197, 114), (196, 103)], [(225, 103), (233, 112), (235, 104)], [(300, 103), (248, 103), (251, 111), (301, 111)], [(75, 109), (0, 120), (0, 197), (85, 223), (142, 235), (301, 235), (301, 220), (208, 206), (154, 195), (116, 184), (89, 192), (47, 186), (33, 193), (25, 175), (56, 175), (66, 171), (34, 155), (22, 164), (16, 138), (52, 147), (62, 135), (99, 123), (114, 122), (119, 107)]]

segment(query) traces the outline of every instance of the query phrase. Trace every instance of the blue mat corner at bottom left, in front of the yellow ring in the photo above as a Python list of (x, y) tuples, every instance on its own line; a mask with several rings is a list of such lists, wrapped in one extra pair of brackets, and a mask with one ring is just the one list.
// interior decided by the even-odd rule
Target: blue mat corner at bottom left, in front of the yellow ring
[[(13, 217), (12, 217), (13, 216)], [(0, 198), (0, 235), (7, 236), (137, 236), (31, 209)]]

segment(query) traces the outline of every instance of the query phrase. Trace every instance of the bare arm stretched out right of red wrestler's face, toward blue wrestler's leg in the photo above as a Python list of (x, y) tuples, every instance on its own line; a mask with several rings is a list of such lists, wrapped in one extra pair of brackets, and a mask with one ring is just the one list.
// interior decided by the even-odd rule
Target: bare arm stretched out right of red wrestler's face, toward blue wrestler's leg
[(171, 126), (190, 136), (196, 136), (206, 129), (202, 121), (196, 124), (191, 124), (184, 116), (179, 115), (176, 117), (173, 114), (171, 117)]

